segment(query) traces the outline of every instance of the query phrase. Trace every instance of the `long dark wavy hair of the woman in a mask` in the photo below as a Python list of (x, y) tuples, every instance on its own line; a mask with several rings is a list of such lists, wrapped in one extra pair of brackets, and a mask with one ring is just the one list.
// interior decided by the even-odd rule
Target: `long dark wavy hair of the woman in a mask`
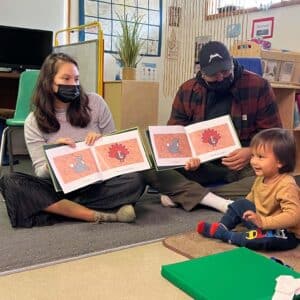
[[(37, 125), (42, 132), (57, 132), (60, 124), (55, 116), (55, 95), (53, 91), (54, 77), (61, 64), (72, 63), (78, 68), (77, 62), (65, 53), (52, 53), (44, 61), (37, 86), (33, 95), (34, 115)], [(86, 127), (90, 120), (89, 100), (80, 86), (80, 100), (70, 103), (67, 120), (72, 126)]]

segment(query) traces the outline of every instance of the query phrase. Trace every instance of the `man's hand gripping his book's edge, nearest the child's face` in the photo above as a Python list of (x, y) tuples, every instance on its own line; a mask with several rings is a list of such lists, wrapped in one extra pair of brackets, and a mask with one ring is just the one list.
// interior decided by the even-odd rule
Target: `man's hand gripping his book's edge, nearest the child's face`
[(251, 150), (250, 148), (241, 148), (234, 150), (229, 153), (226, 157), (222, 158), (222, 164), (230, 170), (241, 170), (243, 169), (250, 161)]

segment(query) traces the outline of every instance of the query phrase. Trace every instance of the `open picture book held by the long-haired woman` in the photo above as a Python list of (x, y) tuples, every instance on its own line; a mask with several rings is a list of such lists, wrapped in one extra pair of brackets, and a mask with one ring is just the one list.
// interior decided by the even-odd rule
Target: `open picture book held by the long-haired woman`
[(103, 136), (92, 146), (44, 145), (44, 151), (55, 189), (64, 193), (151, 167), (137, 128)]

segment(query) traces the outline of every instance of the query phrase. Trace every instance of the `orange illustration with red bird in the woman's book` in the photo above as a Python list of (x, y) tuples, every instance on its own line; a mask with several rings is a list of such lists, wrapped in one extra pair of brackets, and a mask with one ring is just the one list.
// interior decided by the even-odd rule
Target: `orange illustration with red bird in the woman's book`
[(137, 139), (129, 139), (95, 147), (103, 171), (144, 162)]

